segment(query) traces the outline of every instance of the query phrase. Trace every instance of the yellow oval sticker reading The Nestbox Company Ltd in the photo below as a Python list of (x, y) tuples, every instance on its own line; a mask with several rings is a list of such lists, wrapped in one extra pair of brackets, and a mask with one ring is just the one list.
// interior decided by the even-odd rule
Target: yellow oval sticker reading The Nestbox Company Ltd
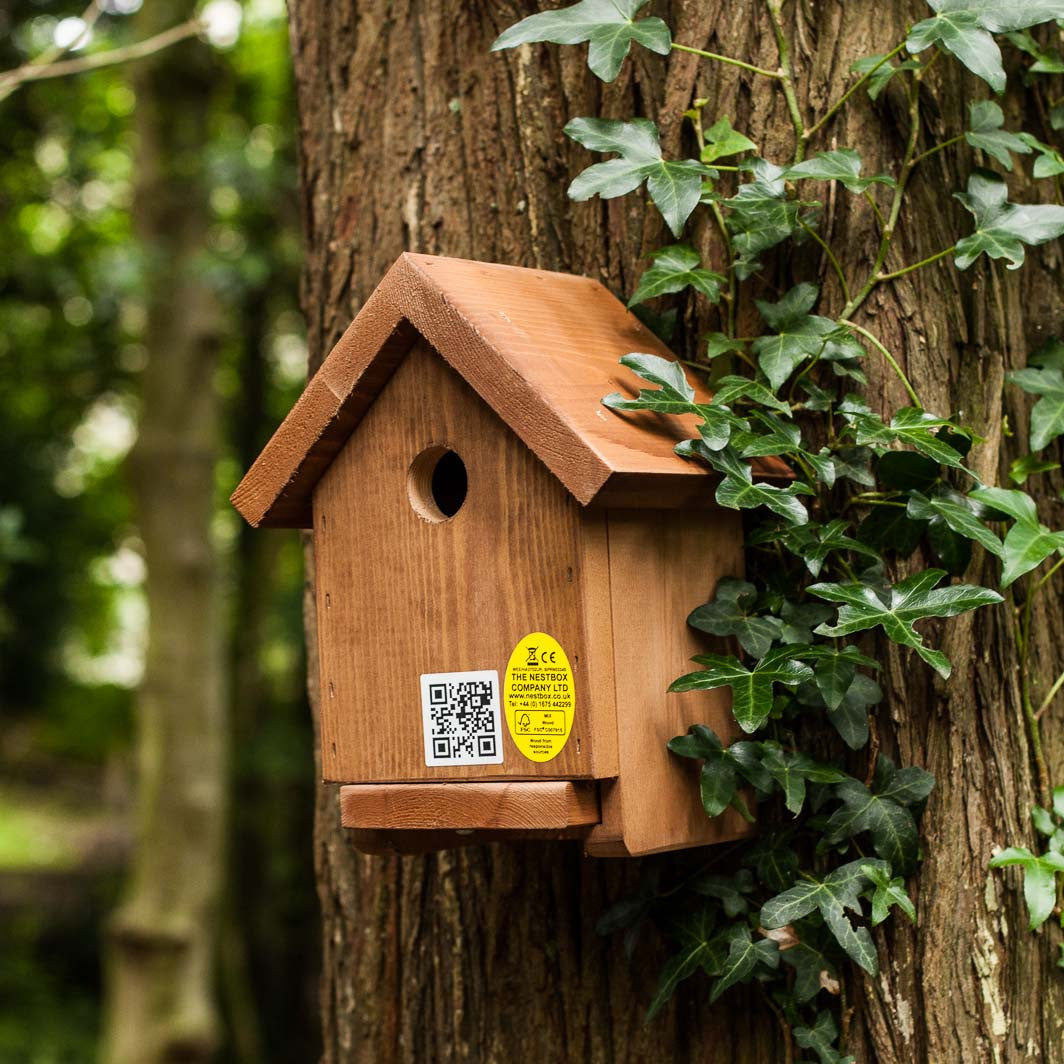
[(517, 749), (529, 761), (556, 758), (569, 741), (577, 714), (572, 669), (556, 639), (532, 632), (514, 647), (503, 699)]

